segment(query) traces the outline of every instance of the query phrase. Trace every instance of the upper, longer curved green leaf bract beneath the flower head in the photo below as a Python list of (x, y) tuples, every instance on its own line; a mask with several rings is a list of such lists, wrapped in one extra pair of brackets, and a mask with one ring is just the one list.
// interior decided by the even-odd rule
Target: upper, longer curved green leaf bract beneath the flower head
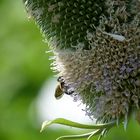
[(108, 128), (108, 127), (113, 126), (115, 124), (115, 122), (105, 123), (105, 124), (87, 125), (87, 124), (73, 122), (73, 121), (70, 121), (67, 119), (63, 119), (63, 118), (57, 118), (52, 121), (43, 122), (40, 132), (42, 132), (45, 128), (47, 128), (51, 124), (62, 124), (62, 125), (72, 126), (72, 127), (76, 127), (76, 128), (82, 128), (82, 129), (103, 129), (103, 128)]

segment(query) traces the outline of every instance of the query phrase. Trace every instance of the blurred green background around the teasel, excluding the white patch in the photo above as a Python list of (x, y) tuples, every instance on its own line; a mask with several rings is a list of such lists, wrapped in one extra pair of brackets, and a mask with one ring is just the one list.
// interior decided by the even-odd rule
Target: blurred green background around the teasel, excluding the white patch
[[(39, 29), (28, 20), (22, 0), (0, 0), (0, 140), (55, 140), (72, 133), (51, 128), (39, 132), (33, 102), (53, 75), (47, 50)], [(105, 137), (133, 139), (140, 140), (140, 126), (134, 120), (126, 132), (120, 126)]]

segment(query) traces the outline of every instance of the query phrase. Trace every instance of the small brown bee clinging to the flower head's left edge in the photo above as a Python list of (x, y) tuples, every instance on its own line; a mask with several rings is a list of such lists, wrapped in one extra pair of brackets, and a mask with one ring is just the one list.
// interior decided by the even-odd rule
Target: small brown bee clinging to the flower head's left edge
[(73, 90), (69, 90), (70, 87), (66, 85), (62, 76), (58, 77), (57, 81), (59, 82), (59, 84), (57, 85), (54, 94), (56, 99), (62, 98), (64, 94), (71, 95), (72, 93), (74, 93)]

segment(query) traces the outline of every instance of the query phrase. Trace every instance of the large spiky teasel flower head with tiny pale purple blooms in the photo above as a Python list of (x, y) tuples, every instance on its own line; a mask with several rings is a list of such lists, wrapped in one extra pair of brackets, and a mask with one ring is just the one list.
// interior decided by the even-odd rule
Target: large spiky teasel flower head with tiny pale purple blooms
[(53, 69), (97, 122), (140, 107), (139, 0), (23, 0), (54, 52)]

